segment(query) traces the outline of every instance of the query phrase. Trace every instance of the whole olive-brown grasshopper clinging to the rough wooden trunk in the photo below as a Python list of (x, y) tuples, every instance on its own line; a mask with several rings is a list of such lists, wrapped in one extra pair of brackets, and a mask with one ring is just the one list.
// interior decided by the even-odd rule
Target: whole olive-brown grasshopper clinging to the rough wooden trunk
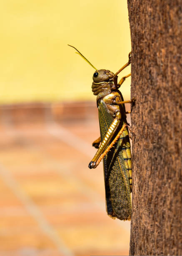
[[(70, 45), (69, 45), (70, 46)], [(89, 163), (89, 168), (96, 168), (103, 159), (106, 211), (111, 218), (130, 220), (132, 192), (132, 159), (125, 103), (118, 90), (131, 74), (117, 82), (118, 74), (131, 63), (131, 53), (128, 62), (115, 74), (107, 69), (96, 69), (74, 46), (94, 69), (92, 92), (97, 95), (99, 113), (100, 137), (92, 143), (97, 152)]]

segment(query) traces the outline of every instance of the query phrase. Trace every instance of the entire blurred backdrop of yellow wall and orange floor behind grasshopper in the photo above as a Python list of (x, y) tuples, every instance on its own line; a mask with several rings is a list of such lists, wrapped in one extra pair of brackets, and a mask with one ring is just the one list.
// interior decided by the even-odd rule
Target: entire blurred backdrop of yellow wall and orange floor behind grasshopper
[[(130, 222), (107, 216), (102, 163), (87, 167), (94, 69), (67, 46), (117, 72), (131, 51), (127, 1), (1, 1), (0, 33), (0, 255), (128, 255)], [(129, 100), (130, 78), (120, 90)]]

